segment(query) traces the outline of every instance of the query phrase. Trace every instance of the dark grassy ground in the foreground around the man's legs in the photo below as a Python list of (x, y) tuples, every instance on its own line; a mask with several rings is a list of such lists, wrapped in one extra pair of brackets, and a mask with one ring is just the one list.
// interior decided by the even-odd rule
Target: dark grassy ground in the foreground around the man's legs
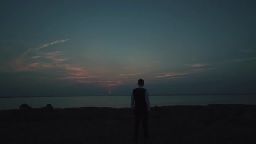
[[(133, 118), (129, 108), (3, 110), (0, 143), (132, 144)], [(149, 136), (150, 144), (256, 144), (256, 105), (152, 107)]]

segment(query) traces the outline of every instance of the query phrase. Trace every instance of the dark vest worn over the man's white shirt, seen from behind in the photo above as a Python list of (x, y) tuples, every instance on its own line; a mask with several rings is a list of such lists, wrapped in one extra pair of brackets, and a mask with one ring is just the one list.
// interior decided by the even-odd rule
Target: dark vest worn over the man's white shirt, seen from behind
[(137, 112), (147, 112), (147, 103), (145, 100), (145, 92), (144, 88), (135, 88), (133, 90), (134, 96), (134, 110)]

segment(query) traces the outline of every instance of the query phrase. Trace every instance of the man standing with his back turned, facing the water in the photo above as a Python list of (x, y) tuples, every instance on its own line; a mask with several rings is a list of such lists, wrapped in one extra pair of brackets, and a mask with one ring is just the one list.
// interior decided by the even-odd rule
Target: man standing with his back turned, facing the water
[(143, 88), (144, 80), (138, 80), (138, 88), (133, 89), (131, 94), (131, 108), (134, 109), (135, 123), (134, 123), (134, 141), (138, 143), (139, 138), (139, 123), (142, 119), (143, 133), (145, 144), (147, 144), (148, 134), (148, 112), (150, 111), (149, 94), (146, 89)]

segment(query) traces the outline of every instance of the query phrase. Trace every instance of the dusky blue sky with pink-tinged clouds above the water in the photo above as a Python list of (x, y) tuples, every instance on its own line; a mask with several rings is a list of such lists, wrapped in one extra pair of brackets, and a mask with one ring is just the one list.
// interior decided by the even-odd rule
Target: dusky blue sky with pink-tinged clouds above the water
[(254, 0), (2, 0), (0, 97), (256, 93)]

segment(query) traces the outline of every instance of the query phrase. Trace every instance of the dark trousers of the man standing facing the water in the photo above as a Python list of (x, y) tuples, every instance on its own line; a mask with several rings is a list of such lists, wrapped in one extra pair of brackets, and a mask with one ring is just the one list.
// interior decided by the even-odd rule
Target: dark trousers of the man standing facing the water
[(134, 112), (135, 113), (135, 123), (134, 123), (134, 140), (139, 139), (139, 123), (142, 119), (142, 127), (144, 133), (144, 139), (149, 137), (147, 123), (148, 123), (148, 112)]

